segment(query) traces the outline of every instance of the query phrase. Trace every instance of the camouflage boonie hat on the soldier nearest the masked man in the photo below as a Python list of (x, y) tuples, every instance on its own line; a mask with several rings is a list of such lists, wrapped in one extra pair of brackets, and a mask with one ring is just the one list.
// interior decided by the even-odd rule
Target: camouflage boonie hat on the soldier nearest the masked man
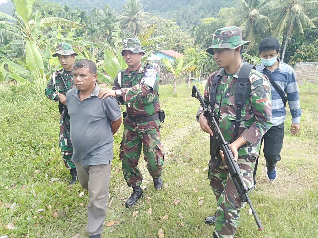
[(250, 41), (243, 41), (242, 31), (237, 26), (227, 26), (214, 31), (212, 45), (205, 51), (214, 54), (212, 49), (236, 49), (241, 45), (248, 45)]

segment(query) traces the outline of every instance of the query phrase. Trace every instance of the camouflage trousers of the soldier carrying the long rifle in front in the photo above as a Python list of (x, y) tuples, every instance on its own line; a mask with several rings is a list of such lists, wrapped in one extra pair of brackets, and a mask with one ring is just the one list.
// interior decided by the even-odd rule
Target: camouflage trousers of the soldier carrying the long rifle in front
[[(253, 186), (255, 159), (253, 155), (243, 155), (239, 156), (237, 161), (248, 188)], [(219, 160), (221, 160), (220, 157)], [(225, 162), (222, 161), (219, 166), (210, 162), (209, 170), (210, 185), (218, 205), (214, 237), (233, 238), (239, 225), (240, 208), (243, 208), (246, 203), (241, 202), (231, 176), (225, 169)]]

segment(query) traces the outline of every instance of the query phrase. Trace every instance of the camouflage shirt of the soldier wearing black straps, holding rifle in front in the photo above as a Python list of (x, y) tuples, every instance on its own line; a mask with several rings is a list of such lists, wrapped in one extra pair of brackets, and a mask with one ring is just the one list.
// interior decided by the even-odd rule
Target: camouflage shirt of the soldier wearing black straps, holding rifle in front
[[(234, 140), (234, 128), (236, 120), (235, 91), (236, 84), (243, 62), (233, 76), (226, 76), (225, 70), (214, 72), (209, 76), (204, 89), (204, 101), (206, 105), (210, 105), (210, 88), (213, 78), (221, 76), (218, 83), (215, 105), (215, 115), (219, 123), (220, 130), (225, 141), (232, 143)], [(247, 95), (245, 106), (241, 111), (241, 123), (239, 126), (238, 136), (242, 136), (248, 141), (245, 147), (239, 149), (239, 156), (246, 154), (258, 154), (260, 150), (260, 140), (265, 132), (272, 126), (272, 102), (271, 87), (266, 76), (252, 69), (249, 76), (249, 85), (247, 87)], [(197, 112), (197, 121), (203, 108)]]

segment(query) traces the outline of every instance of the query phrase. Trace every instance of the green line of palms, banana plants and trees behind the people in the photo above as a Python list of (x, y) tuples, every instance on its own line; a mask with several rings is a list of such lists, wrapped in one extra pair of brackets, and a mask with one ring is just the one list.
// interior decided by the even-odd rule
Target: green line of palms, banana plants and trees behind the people
[[(213, 3), (204, 5), (200, 0), (185, 1), (187, 4), (174, 0), (142, 2), (147, 9), (152, 3), (155, 8), (160, 2), (157, 10), (171, 11), (175, 9), (171, 4), (179, 4), (178, 9), (187, 8), (190, 15), (195, 12), (194, 8), (210, 9)], [(228, 25), (239, 26), (244, 40), (252, 42), (244, 49), (250, 55), (258, 56), (258, 44), (264, 37), (276, 36), (281, 42), (283, 61), (293, 64), (317, 60), (312, 50), (318, 48), (318, 31), (315, 29), (318, 1), (236, 0), (233, 7), (218, 9), (213, 13), (215, 17), (201, 18), (188, 29), (182, 27), (178, 19), (151, 15), (144, 10), (142, 2), (127, 0), (120, 11), (106, 3), (101, 7), (94, 6), (89, 13), (78, 6), (72, 8), (50, 1), (12, 1), (16, 9), (13, 16), (0, 12), (0, 81), (47, 80), (50, 71), (59, 66), (51, 54), (61, 41), (72, 44), (79, 58), (100, 59), (101, 72), (111, 75), (106, 70), (106, 58), (119, 62), (115, 62), (116, 67), (123, 67), (118, 51), (122, 39), (127, 37), (139, 38), (149, 53), (160, 49), (183, 53), (183, 66), (192, 63), (188, 68), (192, 75), (198, 76), (217, 69), (213, 57), (204, 50), (211, 45), (212, 33)], [(176, 68), (179, 63), (176, 59), (168, 68)], [(167, 66), (164, 61), (162, 64)]]

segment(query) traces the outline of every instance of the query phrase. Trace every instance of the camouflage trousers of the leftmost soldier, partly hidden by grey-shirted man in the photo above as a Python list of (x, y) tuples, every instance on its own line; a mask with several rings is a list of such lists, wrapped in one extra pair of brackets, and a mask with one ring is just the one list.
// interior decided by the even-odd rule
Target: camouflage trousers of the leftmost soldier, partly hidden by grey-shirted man
[(72, 162), (72, 155), (73, 155), (73, 146), (72, 143), (69, 145), (69, 142), (66, 139), (66, 135), (70, 138), (70, 118), (66, 116), (66, 128), (63, 122), (63, 116), (65, 111), (63, 110), (61, 117), (60, 117), (60, 133), (59, 133), (59, 147), (61, 148), (63, 161), (66, 166), (66, 169), (75, 169), (75, 164)]

